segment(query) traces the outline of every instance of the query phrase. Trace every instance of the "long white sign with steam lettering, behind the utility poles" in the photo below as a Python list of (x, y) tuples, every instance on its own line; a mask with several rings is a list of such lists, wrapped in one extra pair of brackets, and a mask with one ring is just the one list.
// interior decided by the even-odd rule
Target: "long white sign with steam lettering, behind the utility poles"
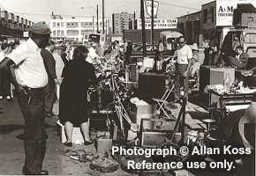
[[(137, 23), (137, 29), (141, 29), (141, 19)], [(154, 29), (169, 28), (177, 28), (177, 19), (154, 19)], [(145, 29), (151, 29), (151, 18), (145, 19)]]

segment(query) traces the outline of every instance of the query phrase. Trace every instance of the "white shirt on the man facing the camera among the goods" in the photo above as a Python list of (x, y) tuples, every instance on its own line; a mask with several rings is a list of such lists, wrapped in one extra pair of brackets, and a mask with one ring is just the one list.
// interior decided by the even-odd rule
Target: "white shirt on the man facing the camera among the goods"
[(177, 50), (177, 63), (178, 64), (188, 64), (188, 59), (192, 58), (192, 49), (184, 45), (183, 48)]

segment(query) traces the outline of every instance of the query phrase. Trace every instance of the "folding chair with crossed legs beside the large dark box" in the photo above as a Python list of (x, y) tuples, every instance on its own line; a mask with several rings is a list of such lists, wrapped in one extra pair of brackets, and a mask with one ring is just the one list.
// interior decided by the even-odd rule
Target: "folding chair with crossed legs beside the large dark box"
[(157, 109), (157, 113), (156, 114), (160, 114), (161, 110), (162, 112), (170, 119), (169, 114), (165, 111), (164, 109), (164, 103), (166, 102), (166, 100), (169, 98), (170, 93), (173, 91), (174, 89), (174, 83), (173, 81), (171, 81), (171, 84), (167, 87), (166, 91), (163, 93), (162, 98), (161, 99), (156, 99), (156, 98), (152, 98), (154, 101), (156, 101), (159, 105), (159, 108)]

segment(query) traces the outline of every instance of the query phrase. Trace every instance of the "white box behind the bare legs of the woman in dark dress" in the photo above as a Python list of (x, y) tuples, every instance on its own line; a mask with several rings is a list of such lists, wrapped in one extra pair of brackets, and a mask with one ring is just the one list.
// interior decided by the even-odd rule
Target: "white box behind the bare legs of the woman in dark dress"
[[(65, 143), (67, 141), (65, 132), (64, 132), (64, 125), (61, 124), (59, 121), (56, 122), (56, 124), (60, 128), (60, 141), (61, 143)], [(72, 132), (72, 143), (76, 143), (79, 141), (80, 143), (84, 143), (84, 137), (81, 134), (80, 128), (79, 127), (74, 127), (73, 132)]]

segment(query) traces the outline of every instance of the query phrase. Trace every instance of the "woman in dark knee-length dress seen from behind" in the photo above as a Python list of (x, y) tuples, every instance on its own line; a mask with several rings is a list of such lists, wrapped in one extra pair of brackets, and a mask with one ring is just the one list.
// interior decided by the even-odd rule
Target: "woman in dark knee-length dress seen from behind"
[(97, 84), (94, 66), (85, 61), (88, 50), (83, 46), (74, 49), (73, 59), (67, 62), (63, 70), (63, 83), (60, 88), (59, 118), (64, 124), (67, 141), (72, 146), (72, 129), (80, 127), (85, 145), (91, 144), (88, 124), (87, 89)]

